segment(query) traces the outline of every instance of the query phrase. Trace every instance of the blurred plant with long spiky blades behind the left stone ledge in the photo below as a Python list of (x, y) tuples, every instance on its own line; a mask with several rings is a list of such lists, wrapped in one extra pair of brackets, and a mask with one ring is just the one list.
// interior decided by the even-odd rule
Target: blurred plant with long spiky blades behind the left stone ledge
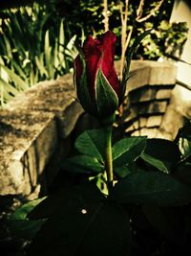
[[(38, 81), (71, 71), (74, 40), (63, 18), (45, 5), (5, 10), (0, 31), (1, 105)], [(67, 31), (67, 32), (66, 32)]]

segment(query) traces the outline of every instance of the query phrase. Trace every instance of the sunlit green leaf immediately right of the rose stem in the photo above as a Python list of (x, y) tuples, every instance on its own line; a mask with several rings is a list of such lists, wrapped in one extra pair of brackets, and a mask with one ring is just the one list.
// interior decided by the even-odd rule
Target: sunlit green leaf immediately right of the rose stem
[(113, 147), (115, 167), (120, 167), (135, 161), (144, 151), (146, 137), (129, 137), (119, 140)]

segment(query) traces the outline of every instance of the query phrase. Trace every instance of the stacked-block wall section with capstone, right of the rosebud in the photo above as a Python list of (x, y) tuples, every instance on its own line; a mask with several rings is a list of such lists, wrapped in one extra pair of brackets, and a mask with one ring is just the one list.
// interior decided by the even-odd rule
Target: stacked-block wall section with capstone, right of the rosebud
[(177, 70), (169, 62), (143, 62), (133, 62), (132, 77), (127, 86), (129, 107), (122, 116), (122, 123), (127, 135), (158, 137), (176, 84)]

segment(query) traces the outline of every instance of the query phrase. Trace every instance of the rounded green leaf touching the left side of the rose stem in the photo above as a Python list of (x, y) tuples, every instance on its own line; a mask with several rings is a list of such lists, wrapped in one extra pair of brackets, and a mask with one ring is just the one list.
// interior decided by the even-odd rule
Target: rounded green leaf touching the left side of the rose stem
[(86, 130), (81, 133), (74, 144), (80, 153), (95, 157), (100, 162), (104, 162), (105, 153), (105, 131), (103, 128)]

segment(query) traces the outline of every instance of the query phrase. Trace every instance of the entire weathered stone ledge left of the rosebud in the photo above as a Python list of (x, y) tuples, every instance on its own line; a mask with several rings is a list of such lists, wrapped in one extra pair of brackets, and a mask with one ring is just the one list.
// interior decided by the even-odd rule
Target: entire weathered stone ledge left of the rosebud
[(83, 112), (72, 74), (42, 81), (0, 110), (0, 195), (29, 195)]

